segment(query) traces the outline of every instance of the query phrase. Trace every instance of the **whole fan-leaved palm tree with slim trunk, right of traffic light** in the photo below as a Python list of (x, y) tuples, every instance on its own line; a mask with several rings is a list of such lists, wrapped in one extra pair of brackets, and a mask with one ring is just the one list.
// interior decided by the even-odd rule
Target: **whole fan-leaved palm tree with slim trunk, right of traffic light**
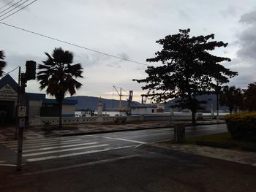
[[(59, 104), (59, 128), (62, 127), (62, 103), (66, 93), (74, 95), (76, 90), (81, 87), (81, 83), (75, 78), (83, 77), (83, 68), (81, 64), (73, 64), (73, 54), (69, 51), (62, 50), (61, 47), (55, 48), (53, 54), (48, 56), (43, 64), (39, 64), (37, 80), (40, 89), (46, 88), (46, 93), (55, 96)], [(75, 77), (75, 78), (74, 78)]]

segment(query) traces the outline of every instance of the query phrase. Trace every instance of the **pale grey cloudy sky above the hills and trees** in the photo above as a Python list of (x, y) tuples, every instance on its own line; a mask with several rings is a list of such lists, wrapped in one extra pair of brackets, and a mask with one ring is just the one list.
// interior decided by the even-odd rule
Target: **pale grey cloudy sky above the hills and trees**
[[(246, 88), (256, 81), (255, 0), (37, 0), (4, 18), (33, 0), (11, 1), (0, 0), (0, 50), (4, 50), (7, 61), (4, 72), (17, 66), (25, 71), (28, 60), (42, 64), (47, 58), (45, 53), (51, 54), (55, 47), (62, 47), (74, 54), (74, 64), (83, 66), (84, 78), (78, 80), (83, 86), (77, 96), (118, 99), (116, 93), (113, 95), (113, 85), (116, 85), (127, 92), (134, 91), (134, 101), (140, 101), (140, 94), (146, 91), (132, 79), (146, 77), (147, 66), (143, 65), (147, 64), (146, 58), (154, 58), (154, 53), (162, 50), (156, 43), (158, 39), (185, 28), (191, 29), (191, 36), (215, 34), (215, 40), (228, 42), (226, 48), (216, 50), (214, 54), (232, 59), (223, 64), (238, 72), (229, 85)], [(4, 15), (11, 10), (4, 12), (8, 6), (22, 2), (22, 6)], [(3, 23), (84, 48), (20, 31)], [(10, 75), (18, 80), (18, 69)], [(27, 85), (26, 92), (45, 93), (39, 90), (36, 80)]]

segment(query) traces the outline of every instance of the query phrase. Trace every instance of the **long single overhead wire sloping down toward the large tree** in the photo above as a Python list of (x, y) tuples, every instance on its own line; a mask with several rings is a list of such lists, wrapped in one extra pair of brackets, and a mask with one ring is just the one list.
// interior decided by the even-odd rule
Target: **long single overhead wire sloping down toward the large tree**
[(111, 55), (111, 54), (108, 54), (108, 53), (103, 53), (103, 52), (101, 52), (101, 51), (93, 50), (93, 49), (88, 48), (88, 47), (83, 47), (83, 46), (76, 45), (76, 44), (71, 43), (71, 42), (63, 41), (63, 40), (61, 40), (61, 39), (56, 39), (56, 38), (54, 38), (54, 37), (49, 37), (49, 36), (44, 35), (44, 34), (39, 34), (39, 33), (37, 33), (37, 32), (30, 31), (30, 30), (27, 30), (27, 29), (25, 29), (25, 28), (20, 28), (20, 27), (17, 27), (17, 26), (12, 26), (12, 25), (10, 25), (10, 24), (3, 23), (3, 22), (1, 22), (1, 21), (0, 21), (0, 23), (1, 23), (2, 25), (4, 25), (4, 26), (9, 26), (9, 27), (12, 27), (12, 28), (19, 29), (19, 30), (21, 30), (21, 31), (26, 31), (26, 32), (28, 32), (28, 33), (30, 33), (30, 34), (35, 34), (35, 35), (38, 35), (38, 36), (40, 36), (40, 37), (45, 37), (45, 38), (47, 38), (47, 39), (52, 39), (52, 40), (55, 40), (55, 41), (57, 41), (57, 42), (65, 43), (65, 44), (67, 44), (67, 45), (72, 45), (72, 46), (74, 46), (74, 47), (79, 47), (79, 48), (81, 48), (81, 49), (89, 50), (89, 51), (94, 52), (94, 53), (99, 53), (99, 54), (102, 54), (102, 55), (107, 55), (107, 56), (112, 57), (112, 58), (118, 58), (118, 59), (121, 59), (121, 60), (124, 60), (124, 61), (129, 61), (129, 62), (132, 62), (132, 63), (135, 63), (135, 64), (141, 64), (141, 65), (144, 65), (144, 66), (151, 66), (151, 65), (148, 65), (148, 64), (143, 64), (143, 63), (138, 62), (138, 61), (133, 61), (133, 60), (128, 59), (128, 58), (121, 58), (121, 57), (118, 57), (118, 56), (116, 56), (116, 55)]

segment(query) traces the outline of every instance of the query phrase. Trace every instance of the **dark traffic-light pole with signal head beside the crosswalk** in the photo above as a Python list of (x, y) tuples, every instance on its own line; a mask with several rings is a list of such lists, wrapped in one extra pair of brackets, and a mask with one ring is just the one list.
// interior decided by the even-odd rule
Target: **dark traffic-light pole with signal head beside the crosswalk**
[(18, 88), (18, 150), (17, 150), (17, 171), (21, 171), (22, 168), (22, 148), (23, 148), (23, 131), (28, 124), (26, 120), (26, 101), (25, 101), (25, 88), (28, 80), (36, 79), (36, 62), (26, 61), (26, 73), (20, 74), (20, 86)]

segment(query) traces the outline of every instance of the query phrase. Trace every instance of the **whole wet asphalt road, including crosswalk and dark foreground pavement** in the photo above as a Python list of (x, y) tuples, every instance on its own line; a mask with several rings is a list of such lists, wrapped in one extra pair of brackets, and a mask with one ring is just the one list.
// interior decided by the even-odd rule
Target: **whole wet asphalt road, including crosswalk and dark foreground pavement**
[[(188, 127), (187, 135), (223, 131)], [(254, 166), (145, 145), (172, 138), (161, 128), (29, 140), (22, 172), (0, 166), (0, 191), (255, 191)], [(2, 143), (1, 157), (3, 149), (15, 145)]]

